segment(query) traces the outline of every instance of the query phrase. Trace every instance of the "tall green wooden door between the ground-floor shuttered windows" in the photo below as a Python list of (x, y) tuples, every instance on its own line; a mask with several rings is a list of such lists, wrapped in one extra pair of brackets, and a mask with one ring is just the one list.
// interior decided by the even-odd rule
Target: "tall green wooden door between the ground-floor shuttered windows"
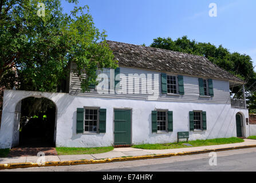
[(131, 110), (115, 109), (114, 145), (131, 145)]

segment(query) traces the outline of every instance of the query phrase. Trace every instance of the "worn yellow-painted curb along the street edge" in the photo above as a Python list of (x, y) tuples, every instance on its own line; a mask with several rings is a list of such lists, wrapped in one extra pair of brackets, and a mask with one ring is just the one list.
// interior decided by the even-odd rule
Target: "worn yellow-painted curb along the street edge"
[(192, 154), (203, 154), (203, 153), (210, 153), (210, 152), (220, 152), (220, 151), (225, 151), (225, 150), (246, 149), (246, 148), (256, 148), (256, 145), (237, 146), (237, 147), (232, 147), (232, 148), (219, 148), (219, 149), (209, 149), (209, 150), (207, 150), (207, 149), (206, 150), (196, 150), (196, 151), (182, 152), (182, 153), (167, 153), (167, 154), (144, 155), (144, 156), (133, 156), (133, 157), (105, 158), (104, 160), (47, 161), (44, 164), (41, 164), (40, 162), (21, 162), (21, 163), (12, 163), (12, 164), (0, 164), (0, 170), (16, 169), (16, 168), (30, 168), (30, 167), (43, 167), (43, 166), (103, 164), (103, 163), (107, 163), (107, 162), (146, 160), (146, 159), (153, 159), (153, 158), (185, 156), (185, 155), (192, 155)]

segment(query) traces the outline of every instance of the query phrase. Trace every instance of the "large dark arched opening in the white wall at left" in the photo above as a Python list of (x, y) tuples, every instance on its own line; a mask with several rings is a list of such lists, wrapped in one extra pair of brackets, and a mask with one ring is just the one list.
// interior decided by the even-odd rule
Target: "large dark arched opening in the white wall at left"
[[(55, 146), (56, 105), (44, 97), (27, 97), (15, 110), (16, 146), (45, 148)], [(16, 126), (16, 128), (15, 128)]]

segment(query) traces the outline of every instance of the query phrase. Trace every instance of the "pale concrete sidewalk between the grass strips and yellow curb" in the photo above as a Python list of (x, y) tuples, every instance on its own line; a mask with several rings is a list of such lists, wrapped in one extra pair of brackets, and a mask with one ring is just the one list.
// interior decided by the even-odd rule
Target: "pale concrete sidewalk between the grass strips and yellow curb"
[[(74, 154), (74, 155), (62, 155), (62, 156), (45, 156), (45, 161), (76, 161), (76, 160), (100, 160), (104, 158), (115, 158), (115, 157), (127, 157), (127, 156), (144, 156), (149, 154), (168, 154), (168, 153), (187, 153), (187, 152), (198, 152), (204, 150), (215, 150), (223, 148), (238, 148), (241, 146), (255, 146), (256, 141), (245, 139), (244, 142), (234, 144), (221, 144), (221, 145), (210, 145), (210, 146), (197, 146), (190, 148), (177, 148), (177, 149), (161, 149), (161, 150), (150, 150), (150, 149), (137, 149), (137, 148), (115, 148), (107, 153), (100, 154)], [(25, 152), (33, 154), (34, 156), (18, 156), (18, 157), (6, 157), (0, 158), (0, 164), (10, 163), (21, 163), (21, 162), (37, 162), (37, 152), (42, 149), (25, 149)], [(19, 150), (18, 150), (19, 151)], [(45, 151), (44, 151), (45, 152)], [(54, 153), (54, 150), (49, 150), (48, 153)], [(15, 154), (15, 153), (14, 153)]]

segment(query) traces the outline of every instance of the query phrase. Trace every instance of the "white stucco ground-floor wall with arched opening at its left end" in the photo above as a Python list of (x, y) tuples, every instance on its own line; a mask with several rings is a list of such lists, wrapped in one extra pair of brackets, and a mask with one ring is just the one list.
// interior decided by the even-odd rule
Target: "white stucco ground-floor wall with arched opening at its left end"
[[(145, 100), (125, 100), (113, 98), (93, 98), (70, 96), (64, 93), (41, 93), (5, 90), (3, 101), (2, 125), (0, 129), (0, 148), (10, 148), (13, 137), (14, 111), (17, 103), (30, 96), (43, 96), (52, 100), (57, 106), (56, 146), (92, 147), (111, 146), (113, 144), (113, 110), (114, 108), (132, 109), (132, 144), (175, 142), (177, 132), (189, 130), (189, 112), (206, 111), (207, 130), (190, 132), (190, 140), (235, 137), (235, 114), (243, 116), (244, 136), (249, 136), (249, 125), (245, 124), (248, 110), (231, 108), (230, 104), (211, 104), (196, 102), (163, 102)], [(76, 109), (84, 106), (96, 106), (107, 109), (106, 133), (77, 134)], [(173, 111), (174, 132), (151, 132), (151, 111), (168, 109)]]

